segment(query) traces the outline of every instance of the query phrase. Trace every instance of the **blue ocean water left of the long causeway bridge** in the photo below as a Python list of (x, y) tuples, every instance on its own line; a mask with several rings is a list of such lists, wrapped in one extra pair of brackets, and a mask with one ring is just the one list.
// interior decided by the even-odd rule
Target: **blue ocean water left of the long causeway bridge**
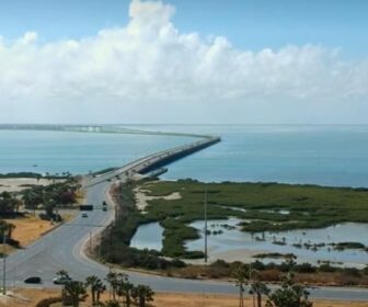
[(119, 167), (145, 155), (193, 141), (192, 137), (0, 130), (0, 173), (83, 174)]

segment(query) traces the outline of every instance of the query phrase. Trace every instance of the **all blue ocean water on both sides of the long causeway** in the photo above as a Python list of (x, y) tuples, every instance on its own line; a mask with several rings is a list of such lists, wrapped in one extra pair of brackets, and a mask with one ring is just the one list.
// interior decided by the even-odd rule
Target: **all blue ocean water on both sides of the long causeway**
[[(163, 179), (368, 186), (368, 126), (130, 125), (219, 135), (222, 141), (169, 167)], [(0, 130), (0, 172), (87, 173), (191, 137)], [(34, 167), (37, 166), (37, 167)]]

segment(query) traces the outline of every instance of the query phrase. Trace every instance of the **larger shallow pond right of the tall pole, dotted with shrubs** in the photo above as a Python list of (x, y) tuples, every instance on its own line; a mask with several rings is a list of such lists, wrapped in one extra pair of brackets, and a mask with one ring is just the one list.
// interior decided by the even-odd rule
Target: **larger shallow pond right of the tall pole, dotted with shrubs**
[[(241, 220), (238, 218), (230, 218), (228, 220), (210, 220), (208, 221), (209, 230), (221, 229), (223, 232), (220, 235), (208, 236), (208, 248), (210, 250), (210, 257), (212, 259), (223, 259), (227, 253), (231, 251), (248, 250), (254, 253), (294, 253), (297, 255), (297, 262), (311, 262), (318, 263), (319, 260), (342, 262), (347, 265), (366, 265), (368, 261), (368, 252), (357, 249), (345, 249), (344, 251), (334, 250), (330, 243), (336, 242), (352, 242), (358, 241), (368, 246), (368, 237), (364, 234), (368, 234), (367, 224), (345, 223), (337, 224), (335, 226), (322, 228), (322, 229), (299, 229), (289, 231), (269, 232), (263, 234), (250, 234), (240, 231), (239, 229), (226, 230), (221, 227), (221, 224), (228, 224), (235, 226)], [(191, 224), (203, 234), (204, 221), (198, 220)], [(361, 235), (357, 235), (361, 234)], [(255, 238), (264, 238), (264, 241), (256, 240)], [(285, 246), (273, 243), (274, 241), (285, 241)], [(318, 248), (315, 251), (311, 249), (297, 248), (294, 245), (319, 245), (325, 243), (324, 247)], [(204, 239), (203, 237), (197, 240), (187, 241), (186, 247), (188, 250), (203, 250)], [(232, 257), (233, 259), (233, 257)], [(244, 253), (239, 252), (237, 260), (244, 259)], [(268, 259), (275, 261), (274, 259)], [(283, 260), (279, 260), (281, 262)], [(266, 261), (267, 262), (267, 261)]]

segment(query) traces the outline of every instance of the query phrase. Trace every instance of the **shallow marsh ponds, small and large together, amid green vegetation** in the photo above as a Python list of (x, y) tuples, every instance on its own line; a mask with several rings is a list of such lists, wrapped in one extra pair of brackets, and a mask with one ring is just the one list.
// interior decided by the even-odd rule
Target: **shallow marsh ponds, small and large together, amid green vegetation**
[[(344, 223), (320, 229), (288, 231), (244, 232), (238, 226), (242, 219), (231, 217), (208, 220), (209, 259), (227, 261), (255, 261), (260, 253), (292, 253), (298, 263), (330, 261), (334, 265), (364, 268), (368, 263), (368, 251), (364, 249), (336, 250), (332, 243), (360, 242), (368, 247), (368, 224)], [(189, 224), (200, 238), (185, 242), (187, 250), (204, 250), (204, 220)], [(131, 247), (161, 250), (163, 228), (159, 223), (141, 225), (131, 239)], [(280, 263), (284, 259), (263, 258), (261, 261)]]

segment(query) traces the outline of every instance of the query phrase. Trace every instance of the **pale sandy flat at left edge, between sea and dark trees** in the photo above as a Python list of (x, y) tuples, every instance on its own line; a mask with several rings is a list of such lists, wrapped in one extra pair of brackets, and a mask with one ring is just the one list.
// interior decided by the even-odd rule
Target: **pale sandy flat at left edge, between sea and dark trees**
[(1, 178), (0, 179), (0, 193), (3, 191), (8, 192), (19, 192), (25, 189), (28, 189), (30, 185), (48, 185), (54, 182), (60, 182), (64, 180), (53, 180), (41, 178)]

